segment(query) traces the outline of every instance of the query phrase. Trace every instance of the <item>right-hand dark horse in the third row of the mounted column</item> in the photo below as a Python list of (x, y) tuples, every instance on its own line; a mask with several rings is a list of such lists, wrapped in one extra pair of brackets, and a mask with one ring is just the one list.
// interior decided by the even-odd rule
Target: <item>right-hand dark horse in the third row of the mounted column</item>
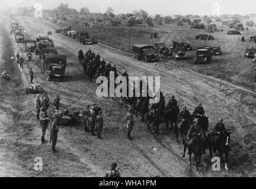
[(169, 122), (171, 122), (171, 130), (172, 130), (172, 126), (174, 125), (176, 134), (178, 132), (177, 121), (178, 121), (179, 114), (180, 114), (179, 106), (173, 107), (172, 109), (165, 110), (165, 126), (168, 129)]

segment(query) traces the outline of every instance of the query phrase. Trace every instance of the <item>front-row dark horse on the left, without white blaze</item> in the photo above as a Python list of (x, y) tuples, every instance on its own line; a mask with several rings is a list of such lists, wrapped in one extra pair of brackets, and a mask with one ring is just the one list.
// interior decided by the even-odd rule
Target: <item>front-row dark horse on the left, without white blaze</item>
[(191, 133), (190, 139), (184, 144), (183, 158), (185, 157), (185, 150), (188, 148), (189, 162), (192, 165), (191, 157), (194, 154), (196, 171), (199, 172), (198, 165), (201, 162), (201, 136), (198, 133)]

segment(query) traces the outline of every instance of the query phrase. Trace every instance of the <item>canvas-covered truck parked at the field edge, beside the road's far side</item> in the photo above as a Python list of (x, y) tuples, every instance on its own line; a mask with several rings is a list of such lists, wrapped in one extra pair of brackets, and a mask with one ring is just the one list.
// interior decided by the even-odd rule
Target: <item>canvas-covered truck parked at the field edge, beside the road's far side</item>
[(137, 60), (143, 60), (145, 63), (158, 61), (158, 56), (155, 56), (153, 45), (137, 44), (132, 46)]

